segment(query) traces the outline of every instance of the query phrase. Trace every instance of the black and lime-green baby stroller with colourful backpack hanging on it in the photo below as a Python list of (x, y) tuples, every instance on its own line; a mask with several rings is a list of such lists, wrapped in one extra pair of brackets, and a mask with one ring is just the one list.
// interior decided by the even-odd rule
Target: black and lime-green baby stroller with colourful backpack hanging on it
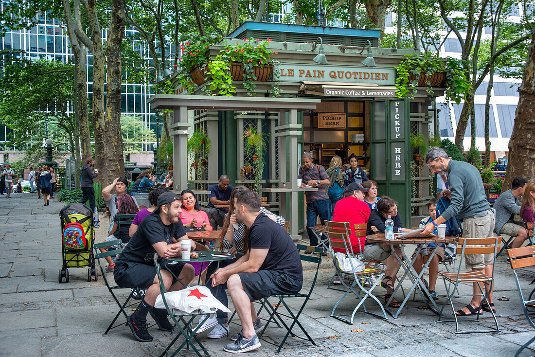
[(65, 278), (65, 282), (68, 283), (68, 268), (83, 267), (89, 267), (87, 281), (90, 282), (91, 277), (95, 277), (96, 282), (97, 270), (93, 253), (95, 240), (93, 212), (83, 203), (71, 203), (59, 211), (59, 221), (63, 232), (63, 266), (59, 270), (58, 282), (62, 283), (63, 278)]

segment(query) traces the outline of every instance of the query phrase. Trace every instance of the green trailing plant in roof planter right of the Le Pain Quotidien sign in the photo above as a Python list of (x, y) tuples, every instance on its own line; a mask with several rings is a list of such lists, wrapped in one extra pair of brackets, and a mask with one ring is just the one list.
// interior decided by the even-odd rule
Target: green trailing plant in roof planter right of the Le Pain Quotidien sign
[[(426, 76), (426, 90), (432, 96), (434, 91), (431, 87), (431, 75), (437, 72), (446, 74), (446, 100), (460, 103), (461, 100), (470, 94), (472, 84), (469, 73), (464, 69), (464, 62), (460, 59), (446, 58), (446, 60), (424, 52), (423, 54), (405, 55), (398, 67), (396, 67), (398, 78), (396, 78), (396, 96), (410, 97), (414, 99), (416, 85), (421, 75)], [(410, 75), (414, 79), (409, 80)]]

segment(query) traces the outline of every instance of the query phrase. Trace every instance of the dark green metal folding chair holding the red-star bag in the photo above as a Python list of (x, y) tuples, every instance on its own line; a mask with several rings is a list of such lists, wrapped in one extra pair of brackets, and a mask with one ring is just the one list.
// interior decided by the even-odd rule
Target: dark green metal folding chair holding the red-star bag
[[(194, 339), (196, 341), (196, 343), (199, 345), (199, 347), (201, 347), (202, 351), (204, 352), (204, 355), (205, 356), (209, 356), (210, 354), (208, 353), (206, 348), (204, 348), (201, 340), (199, 340), (197, 338), (197, 336), (195, 336), (195, 333), (201, 327), (201, 324), (197, 324), (195, 329), (192, 329), (192, 325), (193, 325), (193, 320), (194, 320), (195, 317), (197, 317), (197, 316), (201, 316), (201, 318), (202, 318), (202, 316), (207, 316), (208, 317), (210, 314), (209, 313), (201, 313), (201, 312), (193, 312), (193, 313), (187, 314), (187, 313), (181, 312), (180, 310), (174, 310), (174, 309), (170, 308), (169, 305), (167, 305), (167, 300), (165, 300), (165, 293), (167, 291), (165, 290), (165, 285), (164, 285), (163, 278), (162, 278), (161, 267), (160, 267), (160, 264), (158, 263), (158, 254), (154, 255), (154, 265), (156, 267), (156, 274), (158, 275), (158, 281), (159, 281), (159, 285), (160, 285), (160, 293), (162, 294), (162, 300), (164, 302), (165, 309), (167, 310), (167, 314), (169, 314), (169, 316), (173, 320), (175, 326), (179, 330), (179, 333), (178, 333), (177, 337), (175, 337), (171, 341), (169, 346), (167, 346), (167, 348), (165, 348), (165, 351), (162, 352), (160, 357), (163, 357), (164, 355), (167, 355), (167, 351), (169, 351), (169, 349), (174, 345), (174, 343), (178, 340), (178, 338), (180, 336), (184, 336), (185, 340), (177, 348), (177, 350), (173, 352), (171, 357), (174, 357), (177, 353), (179, 353), (180, 350), (182, 350), (182, 348), (184, 346), (186, 346), (186, 348), (188, 348), (188, 349), (189, 349), (189, 346), (192, 346), (193, 351), (195, 351), (195, 353), (198, 355), (198, 357), (202, 357), (202, 355), (199, 352), (198, 348), (195, 347), (195, 345), (193, 344), (193, 340), (192, 339)], [(180, 280), (178, 280), (178, 281), (180, 281)], [(182, 282), (180, 282), (180, 283), (182, 285), (184, 285)]]

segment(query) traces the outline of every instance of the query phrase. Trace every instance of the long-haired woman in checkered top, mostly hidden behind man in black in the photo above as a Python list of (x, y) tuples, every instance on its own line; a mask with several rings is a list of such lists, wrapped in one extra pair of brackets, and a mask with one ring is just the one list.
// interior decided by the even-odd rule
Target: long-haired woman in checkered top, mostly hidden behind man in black
[[(220, 236), (221, 239), (219, 240), (218, 245), (219, 250), (223, 251), (228, 249), (231, 253), (234, 254), (234, 257), (232, 259), (227, 259), (219, 262), (219, 268), (223, 268), (229, 264), (234, 263), (241, 256), (243, 256), (244, 252), (246, 252), (247, 250), (246, 237), (249, 229), (244, 223), (236, 222), (236, 215), (234, 214), (234, 195), (241, 191), (249, 191), (249, 189), (245, 186), (236, 186), (231, 192), (231, 204), (230, 208), (228, 209), (228, 214), (223, 222), (223, 229), (221, 230)], [(284, 217), (277, 216), (273, 212), (265, 209), (264, 207), (260, 208), (260, 212), (267, 215), (270, 219), (272, 219), (274, 222), (277, 222), (281, 226), (284, 225), (284, 223), (286, 222)], [(207, 275), (211, 276), (216, 270), (216, 268), (216, 264), (211, 264), (208, 268)], [(227, 292), (225, 291), (226, 284), (221, 284), (213, 287), (211, 280), (209, 280), (207, 287), (210, 289), (212, 295), (216, 297), (217, 300), (219, 300), (221, 303), (223, 303), (223, 305), (228, 307)], [(213, 327), (212, 331), (210, 331), (207, 335), (208, 338), (221, 338), (224, 336), (228, 336), (229, 330), (227, 323), (227, 313), (224, 313), (221, 310), (217, 310), (216, 316), (210, 315), (208, 317), (201, 318), (201, 320), (199, 321), (199, 324), (201, 326), (197, 330), (197, 333), (206, 331), (209, 328)], [(254, 309), (251, 309), (251, 317), (253, 317), (253, 326), (255, 330), (262, 328), (262, 322), (256, 315)], [(231, 338), (234, 338), (235, 336), (236, 335), (232, 336)]]

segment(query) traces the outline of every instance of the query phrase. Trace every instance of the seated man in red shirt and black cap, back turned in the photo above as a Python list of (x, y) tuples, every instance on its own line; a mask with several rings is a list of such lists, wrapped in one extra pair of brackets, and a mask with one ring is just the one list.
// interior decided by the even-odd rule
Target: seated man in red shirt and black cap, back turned
[[(355, 224), (368, 223), (370, 218), (370, 206), (364, 202), (364, 192), (368, 192), (361, 184), (350, 183), (347, 186), (345, 198), (337, 202), (334, 206), (333, 221), (349, 222), (350, 234), (349, 240), (353, 247), (353, 253), (360, 253), (361, 247), (364, 249), (364, 240), (366, 237), (356, 237)], [(360, 240), (360, 242), (359, 242)], [(343, 249), (333, 248), (335, 252), (346, 253)]]

